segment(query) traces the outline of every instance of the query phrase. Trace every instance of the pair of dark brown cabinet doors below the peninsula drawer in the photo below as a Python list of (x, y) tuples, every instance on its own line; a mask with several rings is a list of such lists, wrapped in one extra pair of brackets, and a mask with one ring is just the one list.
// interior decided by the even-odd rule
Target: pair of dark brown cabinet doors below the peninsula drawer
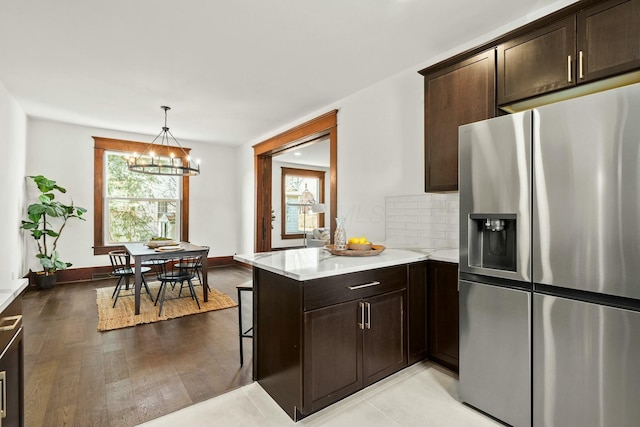
[(304, 412), (315, 412), (406, 366), (404, 291), (304, 314)]

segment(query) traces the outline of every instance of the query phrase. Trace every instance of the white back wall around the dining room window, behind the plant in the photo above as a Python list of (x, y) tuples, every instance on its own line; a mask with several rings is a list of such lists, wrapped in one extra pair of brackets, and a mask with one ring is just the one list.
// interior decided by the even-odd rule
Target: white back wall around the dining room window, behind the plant
[[(28, 120), (26, 175), (45, 175), (67, 189), (73, 202), (88, 209), (85, 221), (67, 224), (58, 241), (62, 260), (74, 267), (108, 265), (106, 255), (93, 255), (93, 145), (92, 136), (150, 142), (153, 136), (90, 128), (47, 120)], [(189, 238), (211, 247), (209, 256), (234, 253), (237, 229), (236, 150), (232, 147), (180, 141), (201, 159), (201, 174), (190, 178)], [(30, 182), (28, 197), (36, 194)], [(27, 201), (29, 202), (29, 200)], [(35, 243), (28, 242), (26, 261), (40, 269)]]

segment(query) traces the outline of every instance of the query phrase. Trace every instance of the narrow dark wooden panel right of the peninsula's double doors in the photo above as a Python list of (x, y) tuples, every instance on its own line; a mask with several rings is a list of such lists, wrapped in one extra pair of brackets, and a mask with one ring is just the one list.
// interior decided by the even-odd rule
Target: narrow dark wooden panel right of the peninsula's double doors
[(427, 263), (409, 266), (407, 286), (408, 362), (415, 363), (427, 357)]

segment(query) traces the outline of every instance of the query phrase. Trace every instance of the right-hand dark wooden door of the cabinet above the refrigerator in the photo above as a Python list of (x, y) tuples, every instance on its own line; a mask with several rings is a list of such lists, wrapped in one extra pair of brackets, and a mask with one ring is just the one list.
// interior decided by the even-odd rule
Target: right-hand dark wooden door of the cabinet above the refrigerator
[(640, 68), (640, 0), (612, 0), (578, 14), (578, 82)]

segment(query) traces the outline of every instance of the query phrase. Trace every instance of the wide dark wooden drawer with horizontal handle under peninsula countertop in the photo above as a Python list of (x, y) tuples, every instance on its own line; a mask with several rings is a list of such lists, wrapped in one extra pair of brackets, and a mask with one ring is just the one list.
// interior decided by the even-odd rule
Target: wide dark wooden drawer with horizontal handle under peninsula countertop
[(394, 266), (309, 280), (304, 283), (304, 311), (406, 288), (407, 266)]

